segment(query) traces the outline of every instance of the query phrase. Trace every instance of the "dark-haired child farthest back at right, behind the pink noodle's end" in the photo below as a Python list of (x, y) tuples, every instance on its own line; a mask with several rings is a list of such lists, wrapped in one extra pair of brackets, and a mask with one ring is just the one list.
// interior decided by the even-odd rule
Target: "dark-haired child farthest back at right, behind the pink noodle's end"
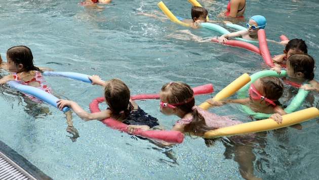
[(307, 44), (302, 39), (291, 39), (284, 50), (283, 55), (277, 55), (272, 58), (272, 62), (275, 64), (275, 67), (271, 68), (271, 70), (280, 73), (282, 67), (286, 68), (287, 59), (293, 54), (307, 54)]

